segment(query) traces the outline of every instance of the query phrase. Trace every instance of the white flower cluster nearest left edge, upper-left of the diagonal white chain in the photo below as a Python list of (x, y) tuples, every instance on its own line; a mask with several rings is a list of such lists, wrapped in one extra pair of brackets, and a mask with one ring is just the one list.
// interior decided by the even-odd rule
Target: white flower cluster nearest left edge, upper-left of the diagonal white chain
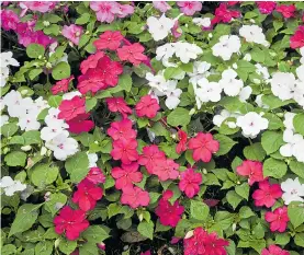
[[(41, 127), (37, 120), (38, 114), (49, 107), (42, 96), (33, 101), (31, 97), (22, 97), (19, 91), (10, 91), (2, 100), (3, 106), (8, 107), (10, 117), (19, 118), (18, 125), (21, 130), (38, 130)], [(3, 115), (5, 116), (5, 115)], [(3, 118), (2, 116), (2, 118)], [(8, 117), (4, 117), (8, 120)]]

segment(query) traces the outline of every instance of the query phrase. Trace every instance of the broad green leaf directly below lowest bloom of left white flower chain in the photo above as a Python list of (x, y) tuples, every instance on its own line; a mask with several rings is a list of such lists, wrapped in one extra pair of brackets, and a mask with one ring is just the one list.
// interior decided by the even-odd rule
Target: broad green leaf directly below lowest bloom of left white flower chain
[(89, 159), (86, 152), (78, 152), (66, 161), (66, 170), (72, 183), (79, 183), (89, 172)]

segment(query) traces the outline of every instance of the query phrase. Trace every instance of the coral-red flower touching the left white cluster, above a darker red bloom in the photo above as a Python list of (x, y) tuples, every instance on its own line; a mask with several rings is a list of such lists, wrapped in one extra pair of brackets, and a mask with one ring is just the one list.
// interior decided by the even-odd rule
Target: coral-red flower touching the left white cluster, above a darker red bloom
[(86, 113), (86, 100), (79, 96), (74, 96), (71, 100), (64, 100), (59, 105), (59, 111), (58, 118), (68, 121)]

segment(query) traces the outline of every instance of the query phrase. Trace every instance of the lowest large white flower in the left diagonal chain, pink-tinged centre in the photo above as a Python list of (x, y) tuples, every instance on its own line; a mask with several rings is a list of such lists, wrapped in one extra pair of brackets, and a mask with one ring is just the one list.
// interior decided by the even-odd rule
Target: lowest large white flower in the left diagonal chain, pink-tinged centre
[(78, 151), (78, 143), (74, 138), (69, 138), (68, 131), (63, 131), (55, 138), (45, 142), (45, 147), (54, 151), (57, 160), (65, 161), (69, 155)]

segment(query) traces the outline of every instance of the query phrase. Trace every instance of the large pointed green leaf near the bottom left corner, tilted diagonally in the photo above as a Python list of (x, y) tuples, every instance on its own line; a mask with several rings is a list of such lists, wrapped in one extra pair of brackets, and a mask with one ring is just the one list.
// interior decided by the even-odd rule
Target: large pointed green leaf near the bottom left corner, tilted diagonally
[(42, 206), (33, 205), (33, 204), (24, 204), (22, 205), (16, 212), (14, 221), (11, 225), (11, 230), (9, 236), (12, 236), (16, 233), (22, 233), (32, 228), (38, 218), (38, 209)]

